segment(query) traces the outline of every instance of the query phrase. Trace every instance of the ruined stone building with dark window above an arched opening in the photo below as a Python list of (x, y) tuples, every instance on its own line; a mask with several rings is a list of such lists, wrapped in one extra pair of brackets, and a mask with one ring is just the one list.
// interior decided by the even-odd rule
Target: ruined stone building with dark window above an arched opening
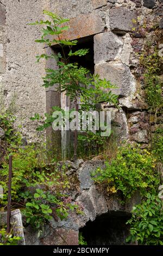
[[(153, 22), (163, 27), (162, 0), (1, 0), (0, 1), (0, 86), (1, 96), (5, 105), (12, 101), (17, 117), (15, 126), (21, 125), (23, 137), (27, 142), (39, 141), (45, 133), (35, 131), (35, 123), (30, 120), (34, 113), (45, 113), (52, 106), (64, 104), (64, 98), (56, 92), (55, 85), (44, 89), (41, 87), (45, 68), (54, 67), (55, 62), (43, 59), (35, 63), (35, 56), (43, 51), (53, 52), (55, 46), (44, 48), (34, 40), (40, 37), (39, 27), (29, 26), (29, 22), (44, 19), (42, 10), (53, 11), (62, 17), (70, 18), (70, 30), (65, 33), (67, 39), (78, 39), (81, 47), (90, 48), (90, 69), (101, 78), (116, 84), (113, 92), (118, 95), (118, 108), (109, 103), (102, 104), (105, 111), (111, 111), (112, 126), (119, 139), (148, 144), (149, 113), (143, 85), (140, 66), (140, 52), (145, 47), (144, 33), (148, 40), (155, 44), (153, 32), (150, 30)], [(145, 26), (146, 24), (146, 26)], [(141, 29), (140, 29), (141, 27)], [(148, 28), (149, 27), (149, 28)], [(147, 32), (145, 32), (147, 28)], [(163, 41), (158, 41), (161, 45)], [(152, 47), (152, 46), (151, 46)], [(162, 47), (163, 48), (163, 47)], [(160, 46), (161, 51), (161, 46)], [(89, 166), (88, 166), (89, 164)], [(89, 173), (95, 162), (84, 163), (79, 168), (80, 195), (77, 201), (85, 205), (85, 216), (72, 216), (68, 221), (54, 223), (61, 236), (66, 236), (67, 243), (78, 243), (78, 230), (95, 220), (100, 226), (107, 218), (106, 212), (123, 210), (119, 220), (126, 222), (127, 212), (131, 205), (121, 209), (118, 202), (108, 205), (105, 198), (96, 191)], [(87, 177), (87, 178), (86, 178)], [(134, 199), (136, 200), (136, 199)], [(132, 202), (131, 202), (132, 204)], [(116, 213), (118, 215), (118, 211)], [(103, 215), (100, 219), (99, 216)], [(99, 219), (98, 219), (99, 218)], [(112, 229), (117, 227), (115, 215), (112, 214)], [(75, 221), (74, 221), (75, 220)], [(92, 222), (93, 223), (93, 222)], [(108, 221), (108, 225), (109, 225)], [(90, 229), (93, 229), (89, 222)], [(124, 230), (123, 230), (124, 231)], [(125, 235), (117, 229), (114, 234), (117, 240), (123, 240)], [(34, 236), (28, 235), (27, 243), (40, 244)], [(54, 236), (46, 230), (42, 243), (62, 243), (60, 236)], [(83, 231), (84, 232), (84, 231)], [(121, 234), (117, 236), (117, 233)], [(68, 235), (67, 235), (68, 234)], [(57, 237), (57, 238), (56, 238)], [(96, 237), (94, 237), (95, 240)], [(113, 237), (110, 237), (113, 240)], [(101, 241), (99, 241), (101, 242)], [(120, 243), (122, 241), (119, 241)], [(118, 243), (118, 242), (117, 242)], [(91, 241), (90, 241), (91, 244)]]

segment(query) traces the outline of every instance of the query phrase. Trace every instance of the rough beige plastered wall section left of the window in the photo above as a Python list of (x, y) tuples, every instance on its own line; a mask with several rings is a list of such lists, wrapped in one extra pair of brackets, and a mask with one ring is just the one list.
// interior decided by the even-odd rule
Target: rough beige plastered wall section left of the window
[(42, 45), (34, 42), (40, 31), (27, 23), (41, 19), (42, 10), (48, 8), (46, 0), (0, 1), (1, 98), (5, 106), (14, 102), (15, 126), (22, 126), (28, 141), (38, 140), (35, 124), (29, 118), (46, 112), (46, 93), (41, 88), (46, 63), (35, 63), (36, 54), (43, 51)]

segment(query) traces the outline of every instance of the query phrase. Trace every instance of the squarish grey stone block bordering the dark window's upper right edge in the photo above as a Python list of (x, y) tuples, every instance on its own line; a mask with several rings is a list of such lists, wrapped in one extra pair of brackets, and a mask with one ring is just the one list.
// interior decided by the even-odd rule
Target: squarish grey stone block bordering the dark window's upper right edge
[(95, 64), (101, 61), (114, 60), (123, 42), (112, 32), (105, 32), (94, 36)]

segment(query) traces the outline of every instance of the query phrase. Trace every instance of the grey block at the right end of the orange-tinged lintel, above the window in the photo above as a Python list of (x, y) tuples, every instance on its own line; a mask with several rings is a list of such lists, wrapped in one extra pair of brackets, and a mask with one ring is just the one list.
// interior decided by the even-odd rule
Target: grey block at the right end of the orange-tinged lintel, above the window
[(119, 7), (110, 10), (110, 28), (116, 33), (123, 34), (132, 31), (134, 27), (133, 19), (136, 19), (134, 10)]

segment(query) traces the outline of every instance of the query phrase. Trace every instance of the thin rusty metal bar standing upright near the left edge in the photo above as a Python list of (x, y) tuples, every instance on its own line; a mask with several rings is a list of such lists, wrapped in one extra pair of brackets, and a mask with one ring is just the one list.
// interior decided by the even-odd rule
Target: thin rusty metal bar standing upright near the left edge
[(7, 211), (7, 233), (10, 232), (11, 215), (11, 179), (12, 179), (12, 155), (9, 156), (9, 184), (8, 184), (8, 211)]

